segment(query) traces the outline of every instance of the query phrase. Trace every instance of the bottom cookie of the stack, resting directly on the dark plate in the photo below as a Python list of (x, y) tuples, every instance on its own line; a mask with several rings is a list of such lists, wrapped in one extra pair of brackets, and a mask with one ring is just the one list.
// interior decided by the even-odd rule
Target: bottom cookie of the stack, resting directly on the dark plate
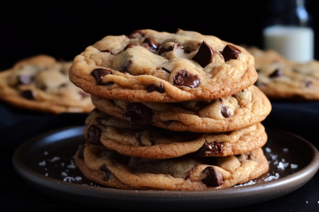
[(236, 156), (158, 160), (124, 156), (86, 143), (77, 150), (75, 164), (94, 183), (134, 190), (222, 189), (246, 183), (269, 170), (261, 148)]

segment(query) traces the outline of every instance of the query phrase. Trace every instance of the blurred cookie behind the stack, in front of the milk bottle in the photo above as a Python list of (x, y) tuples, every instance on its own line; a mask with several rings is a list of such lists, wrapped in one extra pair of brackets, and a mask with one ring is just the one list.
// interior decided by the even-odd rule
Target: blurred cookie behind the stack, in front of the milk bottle
[(255, 57), (256, 85), (268, 98), (319, 100), (319, 61), (298, 63), (275, 50), (247, 50)]

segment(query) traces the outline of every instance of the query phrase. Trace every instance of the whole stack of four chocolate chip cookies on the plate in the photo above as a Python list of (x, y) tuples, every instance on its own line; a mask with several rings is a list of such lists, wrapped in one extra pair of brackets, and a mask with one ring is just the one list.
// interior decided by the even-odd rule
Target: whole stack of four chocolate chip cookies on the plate
[(69, 76), (95, 106), (75, 163), (101, 186), (221, 189), (269, 170), (261, 122), (272, 107), (241, 46), (141, 29), (88, 46)]

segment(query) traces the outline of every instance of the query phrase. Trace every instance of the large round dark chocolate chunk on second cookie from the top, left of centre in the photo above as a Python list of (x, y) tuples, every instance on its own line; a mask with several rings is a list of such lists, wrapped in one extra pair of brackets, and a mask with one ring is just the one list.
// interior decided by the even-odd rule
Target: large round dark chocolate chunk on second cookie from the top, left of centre
[(152, 120), (152, 111), (139, 102), (130, 103), (125, 111), (126, 122), (134, 125), (149, 125)]

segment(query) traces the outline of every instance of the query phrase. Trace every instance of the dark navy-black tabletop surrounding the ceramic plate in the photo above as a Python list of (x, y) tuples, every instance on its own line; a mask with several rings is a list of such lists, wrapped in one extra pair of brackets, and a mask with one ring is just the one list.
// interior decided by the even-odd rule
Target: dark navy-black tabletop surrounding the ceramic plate
[[(273, 109), (262, 122), (268, 128), (295, 133), (319, 146), (319, 102), (272, 101)], [(82, 126), (86, 113), (40, 114), (0, 102), (0, 208), (1, 211), (116, 211), (70, 202), (36, 190), (16, 173), (12, 156), (16, 148), (39, 134), (69, 126)], [(125, 202), (123, 202), (125, 204)], [(231, 202), (229, 202), (231, 205)], [(319, 173), (304, 186), (282, 197), (218, 211), (319, 211)], [(212, 205), (210, 211), (214, 210)]]

